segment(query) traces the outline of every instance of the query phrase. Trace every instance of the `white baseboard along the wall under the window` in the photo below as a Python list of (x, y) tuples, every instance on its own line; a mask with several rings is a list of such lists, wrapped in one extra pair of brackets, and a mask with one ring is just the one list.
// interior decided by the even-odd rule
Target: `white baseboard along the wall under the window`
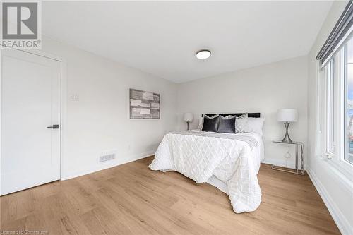
[(325, 203), (326, 207), (328, 207), (328, 211), (330, 212), (330, 215), (333, 217), (333, 220), (337, 224), (338, 229), (340, 229), (340, 232), (342, 234), (347, 235), (352, 234), (353, 231), (352, 228), (349, 226), (347, 218), (342, 214), (340, 208), (337, 207), (335, 201), (330, 197), (330, 194), (328, 193), (328, 191), (326, 191), (325, 187), (323, 186), (323, 183), (321, 183), (316, 174), (310, 169), (306, 169), (306, 172), (308, 173), (311, 181), (313, 182), (313, 185), (318, 191), (318, 194), (323, 199), (323, 203)]

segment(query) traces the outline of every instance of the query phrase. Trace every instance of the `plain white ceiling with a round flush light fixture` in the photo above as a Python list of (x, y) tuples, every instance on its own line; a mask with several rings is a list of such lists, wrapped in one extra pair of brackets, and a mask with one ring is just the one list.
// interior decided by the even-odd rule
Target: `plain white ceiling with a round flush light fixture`
[[(45, 35), (176, 83), (309, 53), (332, 1), (43, 1)], [(209, 59), (195, 53), (210, 49)]]

